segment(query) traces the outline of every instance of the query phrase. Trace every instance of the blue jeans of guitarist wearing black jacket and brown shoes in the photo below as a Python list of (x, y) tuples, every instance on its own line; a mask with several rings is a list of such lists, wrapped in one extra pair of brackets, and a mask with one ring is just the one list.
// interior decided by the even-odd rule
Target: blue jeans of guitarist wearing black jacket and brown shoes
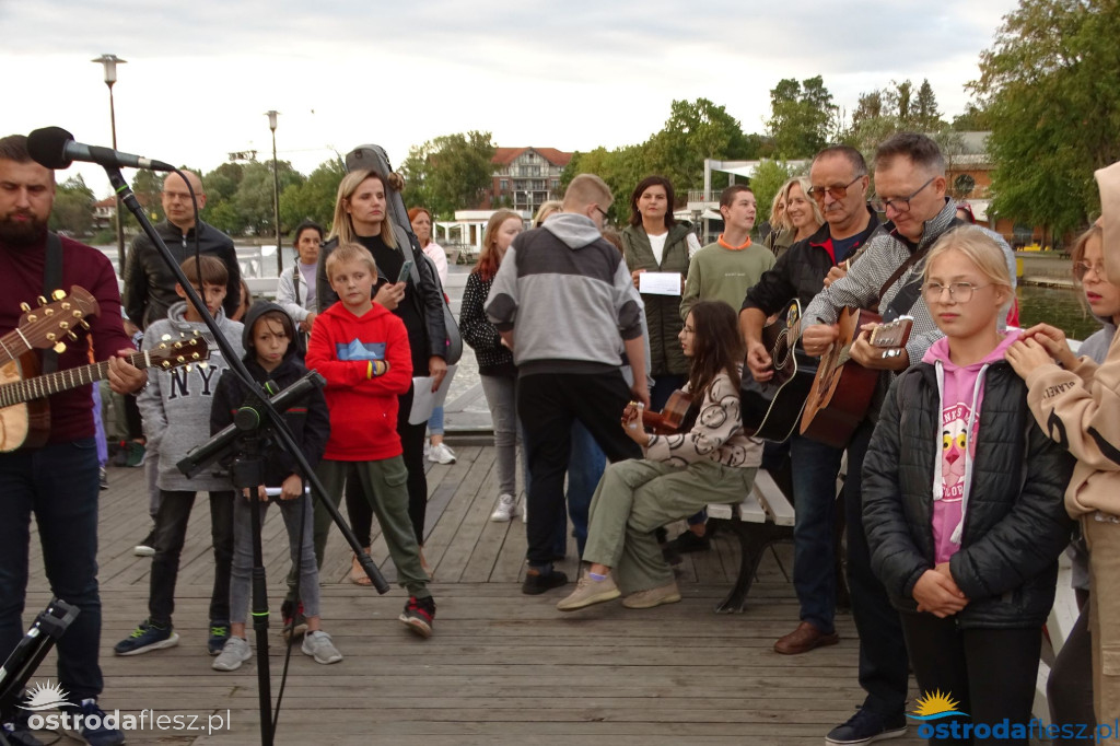
[(837, 610), (836, 525), (837, 473), (842, 448), (800, 435), (790, 439), (793, 466), (793, 588), (801, 619), (832, 634)]

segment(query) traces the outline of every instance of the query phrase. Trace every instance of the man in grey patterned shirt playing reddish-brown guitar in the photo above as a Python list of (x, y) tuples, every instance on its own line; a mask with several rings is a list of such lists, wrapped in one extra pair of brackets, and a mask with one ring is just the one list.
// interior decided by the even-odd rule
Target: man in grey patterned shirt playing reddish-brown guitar
[[(867, 698), (850, 720), (828, 735), (828, 744), (866, 744), (902, 735), (906, 729), (906, 645), (898, 614), (887, 600), (883, 584), (871, 572), (864, 533), (860, 472), (875, 429), (877, 404), (892, 377), (888, 372), (905, 370), (911, 362), (922, 360), (930, 345), (942, 336), (921, 299), (920, 289), (925, 251), (958, 224), (955, 205), (945, 196), (945, 185), (944, 158), (928, 137), (903, 132), (880, 143), (875, 155), (878, 198), (872, 199), (871, 206), (883, 211), (894, 227), (869, 241), (859, 261), (843, 277), (837, 272), (804, 314), (802, 343), (810, 355), (824, 354), (837, 341), (836, 323), (844, 307), (871, 309), (878, 302), (885, 321), (903, 314), (914, 317), (913, 332), (902, 354), (881, 357), (870, 346), (868, 330), (853, 342), (850, 351), (853, 362), (884, 372), (871, 412), (848, 444), (844, 483), (848, 589), (860, 640), (859, 683), (867, 691)], [(1004, 245), (1014, 278), (1010, 248), (995, 233), (992, 236)], [(907, 262), (909, 265), (898, 274), (897, 270)], [(801, 512), (800, 504), (797, 512)]]

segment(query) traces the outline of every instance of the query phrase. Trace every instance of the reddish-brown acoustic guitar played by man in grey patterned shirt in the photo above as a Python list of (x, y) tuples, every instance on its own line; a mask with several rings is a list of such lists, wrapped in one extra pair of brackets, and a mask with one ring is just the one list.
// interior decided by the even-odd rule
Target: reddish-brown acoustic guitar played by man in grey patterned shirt
[[(840, 314), (840, 336), (821, 357), (801, 417), (801, 433), (806, 438), (843, 448), (867, 417), (880, 371), (852, 362), (851, 345), (861, 326), (881, 320), (878, 314), (862, 308), (844, 308)], [(875, 327), (869, 342), (881, 351), (880, 360), (902, 355), (913, 326), (912, 316), (899, 316)]]

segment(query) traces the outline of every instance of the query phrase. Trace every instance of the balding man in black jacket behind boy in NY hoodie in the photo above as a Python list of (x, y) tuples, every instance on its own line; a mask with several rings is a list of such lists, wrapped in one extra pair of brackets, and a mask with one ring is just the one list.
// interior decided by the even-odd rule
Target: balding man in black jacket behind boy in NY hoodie
[[(198, 211), (206, 206), (206, 192), (197, 174), (184, 171), (190, 179), (195, 201), (178, 174), (164, 179), (162, 204), (167, 220), (156, 226), (156, 231), (171, 250), (176, 264), (194, 255), (195, 236), (198, 236), (199, 253), (214, 254), (225, 263), (230, 281), (225, 293), (225, 314), (233, 318), (241, 305), (241, 269), (233, 239), (202, 221), (195, 222), (195, 205)], [(167, 309), (179, 300), (175, 295), (175, 276), (159, 255), (151, 240), (141, 233), (132, 241), (128, 265), (124, 268), (124, 310), (133, 324), (141, 329), (152, 321), (167, 317)]]

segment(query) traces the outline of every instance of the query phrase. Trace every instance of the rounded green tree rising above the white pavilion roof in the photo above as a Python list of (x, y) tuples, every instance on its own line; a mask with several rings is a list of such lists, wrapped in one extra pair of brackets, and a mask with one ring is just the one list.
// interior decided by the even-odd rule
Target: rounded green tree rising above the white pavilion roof
[(774, 152), (782, 158), (810, 158), (828, 144), (837, 129), (837, 106), (818, 75), (797, 83), (784, 78), (771, 90), (771, 118), (766, 125)]

